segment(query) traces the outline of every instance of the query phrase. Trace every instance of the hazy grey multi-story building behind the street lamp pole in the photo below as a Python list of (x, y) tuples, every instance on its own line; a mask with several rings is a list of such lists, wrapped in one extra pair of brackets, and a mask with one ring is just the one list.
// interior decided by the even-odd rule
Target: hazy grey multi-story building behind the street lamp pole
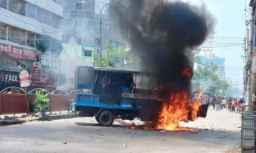
[[(89, 0), (87, 3), (79, 3), (80, 0), (63, 1), (63, 40), (66, 43), (78, 45), (90, 45), (99, 49), (100, 43), (100, 11), (104, 4), (111, 3), (109, 0)], [(89, 4), (91, 3), (91, 4)], [(95, 6), (96, 4), (97, 6)], [(98, 8), (99, 6), (99, 8)], [(108, 43), (117, 47), (122, 46), (121, 31), (113, 21), (113, 15), (109, 13), (109, 6), (102, 10), (102, 48)]]

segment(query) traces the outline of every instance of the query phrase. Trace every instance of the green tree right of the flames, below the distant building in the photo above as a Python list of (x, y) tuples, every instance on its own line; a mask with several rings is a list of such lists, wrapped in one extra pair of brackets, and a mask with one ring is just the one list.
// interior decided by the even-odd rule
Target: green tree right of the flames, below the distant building
[(216, 74), (216, 65), (209, 64), (195, 69), (193, 84), (196, 89), (202, 87), (205, 92), (216, 96), (225, 96), (229, 84), (226, 80), (221, 80)]

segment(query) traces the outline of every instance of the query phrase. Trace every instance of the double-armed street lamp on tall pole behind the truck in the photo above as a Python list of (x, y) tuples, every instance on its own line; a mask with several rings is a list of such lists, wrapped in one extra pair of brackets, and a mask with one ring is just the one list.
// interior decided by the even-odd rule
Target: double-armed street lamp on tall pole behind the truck
[(123, 2), (123, 1), (113, 1), (111, 3), (104, 4), (104, 6), (102, 6), (102, 8), (100, 8), (100, 6), (95, 4), (95, 3), (90, 3), (90, 2), (86, 2), (86, 1), (78, 1), (77, 2), (77, 3), (84, 3), (84, 4), (93, 4), (93, 5), (97, 6), (97, 8), (100, 11), (100, 67), (102, 67), (102, 11), (109, 4), (120, 3), (120, 2)]

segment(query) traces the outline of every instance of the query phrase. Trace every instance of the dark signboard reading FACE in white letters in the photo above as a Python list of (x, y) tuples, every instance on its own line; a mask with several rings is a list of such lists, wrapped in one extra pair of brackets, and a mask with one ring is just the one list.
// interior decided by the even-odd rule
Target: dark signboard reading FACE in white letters
[(20, 87), (19, 72), (0, 70), (0, 91), (6, 87)]

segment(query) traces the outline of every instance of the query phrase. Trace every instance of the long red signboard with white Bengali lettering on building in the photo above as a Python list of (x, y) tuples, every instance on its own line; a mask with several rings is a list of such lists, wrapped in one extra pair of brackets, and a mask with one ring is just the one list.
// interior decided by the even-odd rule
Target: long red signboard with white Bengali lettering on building
[(0, 43), (0, 54), (9, 55), (10, 57), (17, 59), (29, 59), (33, 61), (36, 60), (37, 56), (35, 50), (6, 45), (4, 43)]

